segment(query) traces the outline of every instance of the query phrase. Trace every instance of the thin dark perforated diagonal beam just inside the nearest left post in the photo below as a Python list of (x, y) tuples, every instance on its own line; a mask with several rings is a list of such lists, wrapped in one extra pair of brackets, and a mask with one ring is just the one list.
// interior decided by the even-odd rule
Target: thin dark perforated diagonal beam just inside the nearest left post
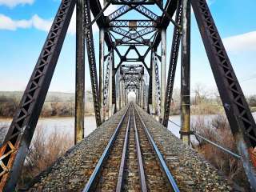
[(90, 1), (86, 1), (85, 3), (85, 25), (86, 27), (85, 35), (86, 35), (86, 48), (87, 48), (87, 57), (90, 68), (90, 82), (91, 89), (94, 98), (94, 112), (96, 118), (97, 126), (102, 124), (101, 120), (101, 108), (100, 108), (100, 97), (98, 92), (98, 77), (97, 77), (97, 69), (96, 69), (96, 58), (94, 53), (94, 35), (92, 26), (89, 25), (91, 22), (90, 18)]

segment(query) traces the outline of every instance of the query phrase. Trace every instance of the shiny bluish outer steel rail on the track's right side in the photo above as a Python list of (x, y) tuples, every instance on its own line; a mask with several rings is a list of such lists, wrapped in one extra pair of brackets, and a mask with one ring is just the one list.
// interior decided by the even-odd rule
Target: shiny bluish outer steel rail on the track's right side
[(136, 110), (136, 112), (138, 114), (138, 118), (142, 122), (142, 126), (143, 126), (143, 128), (146, 132), (147, 138), (149, 138), (152, 149), (154, 150), (155, 154), (158, 157), (158, 162), (160, 163), (160, 166), (162, 167), (162, 171), (164, 172), (164, 174), (166, 174), (166, 178), (170, 182), (170, 185), (172, 186), (172, 189), (174, 190), (174, 192), (179, 192), (178, 185), (177, 185), (173, 175), (170, 173), (170, 170), (169, 170), (168, 166), (166, 165), (166, 162), (165, 162), (164, 158), (162, 157), (162, 154), (161, 154), (160, 150), (158, 150), (158, 146), (154, 142), (154, 139), (151, 136), (150, 131), (147, 129), (145, 123), (142, 120), (141, 115), (138, 113), (138, 110), (136, 109), (135, 106), (134, 106), (134, 109)]

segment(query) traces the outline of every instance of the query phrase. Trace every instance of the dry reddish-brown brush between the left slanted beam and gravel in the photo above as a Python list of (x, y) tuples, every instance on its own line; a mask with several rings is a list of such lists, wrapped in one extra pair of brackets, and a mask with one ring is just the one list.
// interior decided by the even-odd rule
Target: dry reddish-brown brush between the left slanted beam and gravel
[(64, 134), (55, 128), (48, 136), (42, 127), (37, 127), (29, 154), (26, 156), (19, 186), (25, 186), (31, 178), (46, 170), (73, 144), (74, 139), (69, 134)]

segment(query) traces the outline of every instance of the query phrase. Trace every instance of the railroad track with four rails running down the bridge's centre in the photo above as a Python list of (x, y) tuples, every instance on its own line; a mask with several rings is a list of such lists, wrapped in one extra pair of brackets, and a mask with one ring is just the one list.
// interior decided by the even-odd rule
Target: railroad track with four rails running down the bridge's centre
[(179, 191), (133, 103), (118, 123), (83, 191)]

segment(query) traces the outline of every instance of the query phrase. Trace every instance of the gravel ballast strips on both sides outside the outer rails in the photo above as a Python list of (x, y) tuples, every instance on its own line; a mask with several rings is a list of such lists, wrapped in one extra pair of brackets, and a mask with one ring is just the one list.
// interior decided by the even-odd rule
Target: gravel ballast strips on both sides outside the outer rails
[[(93, 173), (126, 108), (71, 148), (34, 179), (30, 191), (81, 191)], [(138, 108), (181, 191), (230, 191), (232, 187), (210, 163)], [(134, 190), (136, 191), (136, 190)]]

